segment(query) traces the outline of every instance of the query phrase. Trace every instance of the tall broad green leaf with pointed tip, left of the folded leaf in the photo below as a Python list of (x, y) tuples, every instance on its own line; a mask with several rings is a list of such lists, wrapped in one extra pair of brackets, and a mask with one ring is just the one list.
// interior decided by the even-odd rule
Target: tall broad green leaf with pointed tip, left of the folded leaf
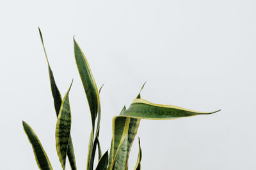
[(97, 85), (92, 75), (90, 66), (86, 60), (84, 53), (74, 39), (74, 52), (76, 58), (77, 68), (83, 83), (84, 91), (86, 93), (87, 101), (90, 107), (92, 116), (92, 128), (94, 132), (95, 119), (99, 111), (99, 93), (97, 90)]

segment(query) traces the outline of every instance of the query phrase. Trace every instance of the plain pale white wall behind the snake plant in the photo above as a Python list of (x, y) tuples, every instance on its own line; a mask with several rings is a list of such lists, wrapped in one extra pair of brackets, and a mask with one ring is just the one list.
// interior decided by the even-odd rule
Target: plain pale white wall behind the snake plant
[[(108, 0), (0, 2), (0, 169), (38, 169), (22, 129), (34, 129), (54, 169), (56, 114), (47, 62), (64, 96), (70, 91), (77, 169), (86, 168), (90, 110), (74, 59), (83, 49), (100, 94), (102, 152), (111, 120), (141, 96), (205, 115), (141, 120), (129, 169), (256, 169), (256, 1)], [(96, 157), (97, 159), (97, 157)], [(67, 162), (67, 169), (70, 166)]]

